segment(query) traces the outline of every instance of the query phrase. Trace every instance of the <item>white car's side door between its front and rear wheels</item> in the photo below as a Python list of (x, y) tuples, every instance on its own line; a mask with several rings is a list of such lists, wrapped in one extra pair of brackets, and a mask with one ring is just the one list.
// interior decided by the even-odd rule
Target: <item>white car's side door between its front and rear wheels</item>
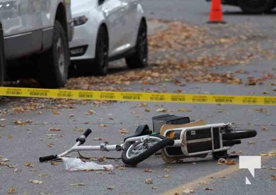
[(124, 8), (121, 0), (105, 0), (102, 4), (102, 11), (108, 28), (109, 56), (112, 57), (122, 51), (126, 24)]

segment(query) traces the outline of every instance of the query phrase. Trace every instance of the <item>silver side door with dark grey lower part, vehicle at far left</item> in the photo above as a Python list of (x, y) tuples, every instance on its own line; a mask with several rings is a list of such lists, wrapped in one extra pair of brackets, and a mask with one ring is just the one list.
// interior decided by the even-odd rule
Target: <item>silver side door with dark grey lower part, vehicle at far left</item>
[(41, 48), (41, 0), (1, 0), (7, 59), (28, 55)]

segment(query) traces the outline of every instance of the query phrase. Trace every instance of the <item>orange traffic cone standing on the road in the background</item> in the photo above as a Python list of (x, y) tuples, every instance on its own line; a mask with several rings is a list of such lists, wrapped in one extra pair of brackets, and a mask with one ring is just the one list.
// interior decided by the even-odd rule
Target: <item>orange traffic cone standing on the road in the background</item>
[(208, 23), (226, 23), (223, 21), (221, 0), (212, 0)]

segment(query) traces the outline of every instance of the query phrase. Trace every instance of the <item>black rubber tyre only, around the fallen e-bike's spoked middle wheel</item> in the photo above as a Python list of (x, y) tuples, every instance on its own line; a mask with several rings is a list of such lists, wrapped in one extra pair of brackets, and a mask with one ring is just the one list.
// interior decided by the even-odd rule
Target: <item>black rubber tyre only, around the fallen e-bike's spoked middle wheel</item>
[[(135, 142), (134, 142), (135, 143)], [(145, 152), (142, 152), (141, 154), (134, 156), (134, 157), (127, 157), (127, 152), (129, 151), (130, 147), (134, 147), (133, 144), (129, 144), (129, 146), (123, 151), (122, 153), (122, 161), (131, 166), (135, 166), (138, 163), (142, 162), (143, 160), (147, 159), (149, 156), (156, 153), (158, 150), (161, 150), (165, 148), (166, 146), (172, 146), (174, 144), (173, 139), (163, 139), (154, 144), (153, 146), (149, 147)]]

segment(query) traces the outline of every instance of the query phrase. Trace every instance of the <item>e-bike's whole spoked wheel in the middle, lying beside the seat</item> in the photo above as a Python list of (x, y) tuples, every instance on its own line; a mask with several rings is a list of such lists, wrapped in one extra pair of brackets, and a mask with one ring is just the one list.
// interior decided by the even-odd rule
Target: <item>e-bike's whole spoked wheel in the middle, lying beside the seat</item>
[(123, 150), (122, 161), (127, 165), (135, 166), (157, 151), (173, 144), (173, 139), (161, 139), (159, 137), (149, 137), (145, 141), (135, 141)]

